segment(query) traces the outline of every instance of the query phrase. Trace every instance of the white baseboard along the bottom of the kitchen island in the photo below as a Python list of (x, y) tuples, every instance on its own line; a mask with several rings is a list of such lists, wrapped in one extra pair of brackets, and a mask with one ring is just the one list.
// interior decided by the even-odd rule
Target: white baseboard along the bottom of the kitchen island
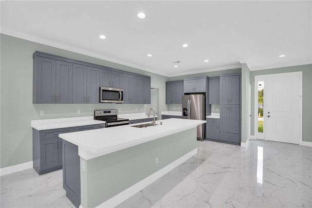
[[(184, 156), (180, 157), (176, 161), (170, 163), (166, 167), (158, 170), (157, 172), (153, 173), (152, 175), (144, 178), (143, 180), (137, 182), (132, 187), (129, 187), (128, 189), (125, 189), (124, 191), (118, 193), (117, 195), (113, 196), (112, 198), (108, 199), (107, 201), (103, 202), (102, 204), (98, 205), (97, 208), (112, 208), (116, 207), (118, 204), (123, 202), (124, 200), (128, 199), (129, 197), (136, 194), (138, 191), (144, 189), (148, 185), (152, 184), (154, 181), (159, 179), (161, 176), (169, 172), (170, 170), (173, 170), (183, 162), (185, 162), (187, 159), (191, 158), (193, 155), (197, 153), (197, 148), (190, 151), (189, 153), (185, 154)], [(82, 208), (80, 205), (79, 208)]]

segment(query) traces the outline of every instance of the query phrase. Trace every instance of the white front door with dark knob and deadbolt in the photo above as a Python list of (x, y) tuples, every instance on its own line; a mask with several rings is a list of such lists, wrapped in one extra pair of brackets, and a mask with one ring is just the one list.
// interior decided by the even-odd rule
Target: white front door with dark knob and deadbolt
[(264, 88), (265, 139), (299, 144), (302, 73), (266, 75)]

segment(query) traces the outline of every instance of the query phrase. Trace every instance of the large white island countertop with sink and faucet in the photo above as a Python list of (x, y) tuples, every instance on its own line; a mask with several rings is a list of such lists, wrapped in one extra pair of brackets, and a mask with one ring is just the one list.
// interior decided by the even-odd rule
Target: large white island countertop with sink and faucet
[[(149, 122), (145, 122), (149, 123)], [(147, 128), (131, 127), (137, 124), (59, 134), (59, 137), (78, 146), (80, 157), (88, 160), (114, 151), (129, 148), (206, 123), (203, 120), (170, 118)]]

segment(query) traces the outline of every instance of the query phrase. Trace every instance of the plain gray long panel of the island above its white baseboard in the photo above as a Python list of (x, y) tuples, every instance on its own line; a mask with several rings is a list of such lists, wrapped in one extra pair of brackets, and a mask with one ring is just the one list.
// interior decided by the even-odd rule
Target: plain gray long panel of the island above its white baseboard
[(85, 163), (85, 171), (80, 168), (81, 206), (96, 207), (193, 151), (196, 131), (178, 132), (90, 160), (80, 158)]

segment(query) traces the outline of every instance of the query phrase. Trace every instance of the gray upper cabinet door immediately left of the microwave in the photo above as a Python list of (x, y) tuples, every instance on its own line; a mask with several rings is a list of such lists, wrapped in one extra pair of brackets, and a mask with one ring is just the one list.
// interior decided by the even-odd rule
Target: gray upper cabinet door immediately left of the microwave
[(99, 69), (87, 67), (87, 103), (99, 103)]

